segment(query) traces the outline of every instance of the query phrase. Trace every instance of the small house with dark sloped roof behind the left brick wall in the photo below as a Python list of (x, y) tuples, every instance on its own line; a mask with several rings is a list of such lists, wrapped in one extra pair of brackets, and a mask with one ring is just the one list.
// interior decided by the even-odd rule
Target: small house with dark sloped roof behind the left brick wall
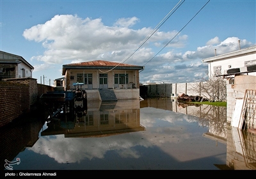
[(34, 67), (15, 54), (0, 51), (0, 80), (32, 77)]

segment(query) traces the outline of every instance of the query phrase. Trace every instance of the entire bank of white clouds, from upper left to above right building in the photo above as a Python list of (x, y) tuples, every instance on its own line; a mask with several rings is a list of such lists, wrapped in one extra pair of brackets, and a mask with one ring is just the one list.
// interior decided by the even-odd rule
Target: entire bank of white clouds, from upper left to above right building
[[(207, 71), (207, 64), (203, 64), (202, 59), (214, 56), (215, 49), (217, 55), (220, 55), (239, 48), (239, 38), (227, 37), (221, 41), (215, 36), (195, 51), (184, 51), (188, 35), (177, 35), (176, 30), (156, 31), (142, 45), (141, 42), (152, 34), (153, 29), (132, 29), (131, 26), (138, 22), (136, 17), (122, 18), (113, 26), (105, 26), (102, 19), (55, 15), (44, 24), (26, 29), (23, 36), (27, 40), (42, 43), (45, 48), (44, 54), (31, 58), (45, 63), (35, 66), (35, 71), (42, 70), (46, 64), (63, 65), (102, 59), (146, 65), (145, 70), (140, 73), (141, 82), (198, 81)], [(175, 35), (177, 36), (173, 38)], [(241, 49), (253, 45), (244, 39), (240, 43)]]

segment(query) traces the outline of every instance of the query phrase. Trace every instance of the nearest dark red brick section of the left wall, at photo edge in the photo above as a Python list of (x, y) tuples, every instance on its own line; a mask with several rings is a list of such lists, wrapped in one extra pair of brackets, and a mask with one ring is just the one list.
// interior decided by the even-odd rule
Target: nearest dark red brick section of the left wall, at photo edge
[(29, 110), (29, 85), (0, 81), (0, 127)]

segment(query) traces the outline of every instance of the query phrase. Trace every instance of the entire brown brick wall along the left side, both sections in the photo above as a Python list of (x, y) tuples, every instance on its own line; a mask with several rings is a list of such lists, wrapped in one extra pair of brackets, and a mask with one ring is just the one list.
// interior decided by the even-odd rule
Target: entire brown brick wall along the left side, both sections
[(32, 106), (47, 91), (54, 91), (54, 88), (37, 84), (36, 79), (32, 78), (0, 81), (0, 127), (31, 112)]

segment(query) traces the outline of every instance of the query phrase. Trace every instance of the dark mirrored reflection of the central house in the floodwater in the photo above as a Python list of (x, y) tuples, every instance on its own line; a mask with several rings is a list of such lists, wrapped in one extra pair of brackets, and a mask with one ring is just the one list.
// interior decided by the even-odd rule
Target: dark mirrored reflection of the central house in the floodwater
[(59, 125), (51, 121), (41, 135), (104, 137), (143, 130), (145, 127), (140, 125), (139, 100), (118, 100), (118, 102), (107, 103), (93, 101), (86, 113), (77, 113), (73, 121), (61, 121)]

